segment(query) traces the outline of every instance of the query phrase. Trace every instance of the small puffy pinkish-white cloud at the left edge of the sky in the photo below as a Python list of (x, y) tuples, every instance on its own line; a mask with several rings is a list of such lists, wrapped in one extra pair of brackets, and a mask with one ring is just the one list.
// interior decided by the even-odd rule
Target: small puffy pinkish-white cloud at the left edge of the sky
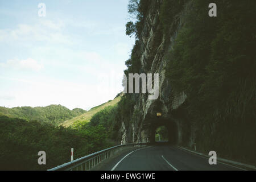
[(28, 58), (26, 60), (12, 59), (7, 60), (6, 63), (1, 63), (1, 67), (13, 68), (19, 70), (30, 70), (30, 71), (40, 71), (44, 68), (43, 64), (38, 63), (38, 61)]

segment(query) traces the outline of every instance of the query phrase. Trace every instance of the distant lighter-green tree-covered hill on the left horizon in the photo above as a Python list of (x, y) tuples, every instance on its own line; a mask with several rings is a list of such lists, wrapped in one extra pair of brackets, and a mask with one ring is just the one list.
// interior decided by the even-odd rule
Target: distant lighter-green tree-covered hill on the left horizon
[(10, 117), (22, 118), (27, 121), (47, 122), (59, 125), (67, 119), (76, 117), (85, 113), (83, 109), (69, 110), (67, 107), (61, 105), (49, 105), (46, 107), (0, 107), (0, 113), (9, 115)]

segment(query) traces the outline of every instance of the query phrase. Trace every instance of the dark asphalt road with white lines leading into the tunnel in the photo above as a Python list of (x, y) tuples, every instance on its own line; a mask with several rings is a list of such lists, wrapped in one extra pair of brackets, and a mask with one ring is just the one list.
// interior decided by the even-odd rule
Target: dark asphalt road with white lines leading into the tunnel
[(148, 146), (135, 151), (127, 151), (108, 162), (100, 170), (105, 171), (182, 171), (218, 170), (237, 171), (241, 168), (218, 162), (208, 163), (209, 158), (192, 154), (175, 146)]

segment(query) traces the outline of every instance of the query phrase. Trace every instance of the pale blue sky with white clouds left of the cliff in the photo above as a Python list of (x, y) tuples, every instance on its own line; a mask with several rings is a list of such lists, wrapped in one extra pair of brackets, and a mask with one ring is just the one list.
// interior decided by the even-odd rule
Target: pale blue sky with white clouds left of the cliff
[(0, 106), (89, 110), (113, 100), (134, 44), (127, 3), (0, 0)]

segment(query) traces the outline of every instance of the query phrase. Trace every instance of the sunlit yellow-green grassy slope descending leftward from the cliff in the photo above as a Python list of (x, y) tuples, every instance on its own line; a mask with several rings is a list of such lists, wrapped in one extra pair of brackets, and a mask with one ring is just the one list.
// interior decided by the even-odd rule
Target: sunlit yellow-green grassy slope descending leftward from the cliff
[(102, 109), (104, 109), (105, 107), (108, 107), (108, 106), (114, 106), (120, 100), (121, 100), (121, 96), (115, 97), (114, 100), (110, 100), (110, 101), (108, 101), (104, 104), (93, 107), (92, 109), (90, 109), (86, 113), (81, 114), (81, 115), (79, 115), (75, 118), (69, 119), (69, 120), (61, 123), (61, 126), (69, 127), (69, 126), (73, 125), (73, 123), (75, 123), (75, 122), (89, 122), (90, 119), (93, 117), (93, 115), (96, 114), (98, 111), (101, 111)]

